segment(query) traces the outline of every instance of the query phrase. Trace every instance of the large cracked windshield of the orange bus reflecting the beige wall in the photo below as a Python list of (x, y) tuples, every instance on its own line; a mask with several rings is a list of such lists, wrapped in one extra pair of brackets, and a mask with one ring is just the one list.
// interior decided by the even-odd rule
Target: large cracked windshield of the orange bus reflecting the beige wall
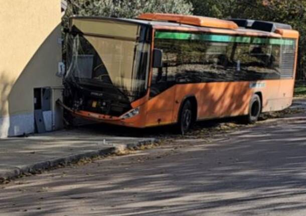
[[(149, 44), (117, 37), (71, 34), (66, 80), (86, 88), (112, 87), (130, 102), (146, 92)], [(101, 87), (101, 89), (99, 89)]]

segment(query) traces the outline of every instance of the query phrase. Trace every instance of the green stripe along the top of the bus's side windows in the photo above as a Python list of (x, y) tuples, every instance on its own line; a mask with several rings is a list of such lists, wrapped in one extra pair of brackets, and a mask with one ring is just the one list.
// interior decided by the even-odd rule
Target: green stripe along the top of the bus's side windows
[(210, 42), (237, 42), (237, 43), (252, 43), (252, 44), (276, 44), (276, 45), (294, 45), (294, 40), (287, 39), (272, 39), (272, 38), (253, 38), (239, 37), (230, 35), (201, 35), (191, 33), (178, 32), (156, 32), (157, 39), (174, 39), (174, 40), (201, 40)]

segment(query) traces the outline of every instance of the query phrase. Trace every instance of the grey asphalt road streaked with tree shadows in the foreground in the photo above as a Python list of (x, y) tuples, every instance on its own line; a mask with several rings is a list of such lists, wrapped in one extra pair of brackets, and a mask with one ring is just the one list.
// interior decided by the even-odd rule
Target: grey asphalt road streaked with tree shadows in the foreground
[(17, 179), (0, 215), (306, 215), (306, 117)]

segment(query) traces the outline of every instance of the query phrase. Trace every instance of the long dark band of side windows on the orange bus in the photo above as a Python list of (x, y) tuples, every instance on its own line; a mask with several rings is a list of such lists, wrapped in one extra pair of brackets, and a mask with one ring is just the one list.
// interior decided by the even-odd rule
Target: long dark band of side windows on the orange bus
[[(156, 39), (155, 46), (163, 50), (165, 63), (160, 73), (154, 71), (156, 77), (153, 77), (152, 84), (154, 81), (160, 82), (156, 86), (159, 92), (174, 84), (280, 78), (279, 44), (271, 44), (269, 40), (256, 37), (250, 37), (250, 41), (235, 42), (234, 38), (228, 42), (222, 37), (213, 36), (200, 33), (180, 40)], [(294, 49), (286, 49), (290, 53), (285, 55), (294, 53)]]

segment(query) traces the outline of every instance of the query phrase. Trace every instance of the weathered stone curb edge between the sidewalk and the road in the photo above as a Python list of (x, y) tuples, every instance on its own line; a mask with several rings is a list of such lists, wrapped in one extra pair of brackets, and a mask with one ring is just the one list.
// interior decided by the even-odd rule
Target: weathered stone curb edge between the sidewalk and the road
[(46, 161), (41, 161), (20, 167), (9, 167), (8, 171), (0, 173), (0, 184), (6, 180), (16, 178), (22, 174), (38, 173), (42, 170), (47, 170), (56, 167), (58, 165), (67, 165), (85, 158), (94, 158), (98, 156), (111, 155), (124, 150), (137, 150), (142, 146), (151, 145), (158, 142), (159, 142), (158, 139), (151, 138), (127, 144), (115, 144), (115, 146), (112, 147), (107, 147), (94, 151), (88, 151), (86, 153), (67, 155), (64, 157), (54, 158), (51, 160), (49, 159)]

